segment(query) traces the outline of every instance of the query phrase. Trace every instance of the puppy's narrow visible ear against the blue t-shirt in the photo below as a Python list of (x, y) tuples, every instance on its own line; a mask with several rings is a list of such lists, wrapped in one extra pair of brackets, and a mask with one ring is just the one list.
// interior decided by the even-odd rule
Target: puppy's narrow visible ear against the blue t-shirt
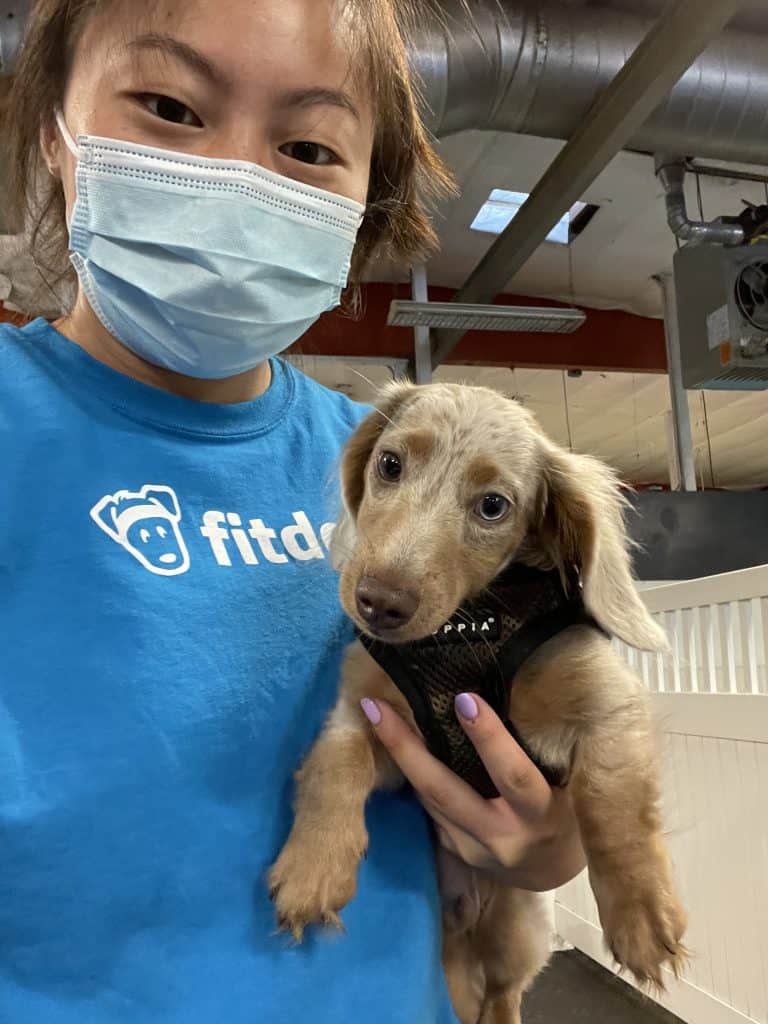
[(341, 462), (342, 511), (331, 541), (334, 567), (342, 568), (355, 544), (355, 522), (366, 493), (366, 470), (371, 453), (398, 410), (418, 393), (414, 384), (394, 381), (379, 392), (375, 412), (360, 423), (347, 441)]

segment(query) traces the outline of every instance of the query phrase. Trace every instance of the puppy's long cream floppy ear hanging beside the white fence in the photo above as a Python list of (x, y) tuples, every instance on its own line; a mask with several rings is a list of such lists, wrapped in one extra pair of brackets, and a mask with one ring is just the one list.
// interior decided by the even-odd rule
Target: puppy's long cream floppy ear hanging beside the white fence
[(632, 578), (627, 505), (615, 474), (590, 456), (545, 442), (540, 539), (556, 565), (575, 565), (584, 601), (600, 625), (640, 650), (668, 647)]

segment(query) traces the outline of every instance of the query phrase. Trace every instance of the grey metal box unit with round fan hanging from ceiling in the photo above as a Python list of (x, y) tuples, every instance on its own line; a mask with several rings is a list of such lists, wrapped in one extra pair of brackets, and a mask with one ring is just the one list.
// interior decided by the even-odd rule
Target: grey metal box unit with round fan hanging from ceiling
[(686, 388), (768, 388), (768, 243), (675, 254)]

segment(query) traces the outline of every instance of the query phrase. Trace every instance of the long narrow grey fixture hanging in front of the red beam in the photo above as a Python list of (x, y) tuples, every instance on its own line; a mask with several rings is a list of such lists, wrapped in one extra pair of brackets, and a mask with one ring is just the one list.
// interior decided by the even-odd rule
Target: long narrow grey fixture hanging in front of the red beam
[(389, 306), (390, 327), (444, 328), (452, 331), (519, 331), (526, 334), (571, 334), (587, 319), (581, 309), (537, 309), (527, 306), (463, 305), (459, 302), (413, 302), (395, 299)]

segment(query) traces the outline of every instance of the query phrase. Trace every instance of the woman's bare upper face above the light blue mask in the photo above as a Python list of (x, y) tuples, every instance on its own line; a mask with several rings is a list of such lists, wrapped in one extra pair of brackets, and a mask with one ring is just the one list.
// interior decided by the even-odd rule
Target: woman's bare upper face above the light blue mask
[[(246, 160), (366, 202), (373, 112), (333, 0), (137, 6), (108, 4), (78, 41), (63, 102), (74, 136)], [(43, 147), (69, 214), (75, 158), (52, 125)]]

